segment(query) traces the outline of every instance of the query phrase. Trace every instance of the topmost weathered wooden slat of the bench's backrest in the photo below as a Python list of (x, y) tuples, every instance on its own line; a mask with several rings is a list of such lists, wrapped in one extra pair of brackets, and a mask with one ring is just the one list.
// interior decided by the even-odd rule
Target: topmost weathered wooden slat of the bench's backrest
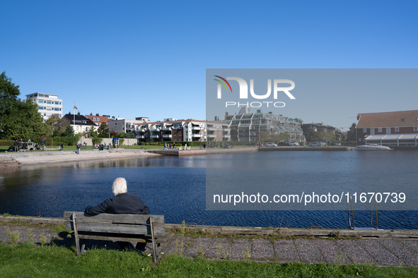
[[(64, 212), (64, 219), (72, 220), (73, 212)], [(117, 222), (127, 224), (149, 224), (149, 217), (152, 216), (153, 223), (164, 224), (164, 215), (152, 214), (108, 214), (101, 213), (97, 215), (86, 214), (84, 212), (76, 212), (77, 222)]]

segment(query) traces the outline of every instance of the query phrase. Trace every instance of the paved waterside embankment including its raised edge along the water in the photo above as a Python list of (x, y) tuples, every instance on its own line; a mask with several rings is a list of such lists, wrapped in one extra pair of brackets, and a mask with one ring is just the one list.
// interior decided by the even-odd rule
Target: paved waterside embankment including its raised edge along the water
[[(74, 238), (67, 232), (54, 233), (47, 225), (33, 228), (19, 224), (62, 224), (62, 218), (0, 216), (0, 222), (4, 222), (0, 224), (0, 242), (8, 242), (9, 234), (18, 233), (19, 243), (34, 241), (42, 244), (44, 238), (43, 241), (47, 243), (53, 241), (56, 245), (74, 246)], [(166, 228), (175, 228), (177, 231), (181, 227), (180, 224), (166, 224)], [(354, 231), (199, 225), (187, 225), (185, 228), (186, 233), (197, 229), (202, 234), (193, 236), (190, 232), (182, 236), (168, 232), (166, 242), (161, 245), (161, 255), (175, 253), (209, 260), (418, 266), (417, 230)], [(87, 250), (120, 248), (112, 241), (85, 240), (83, 244), (86, 244)], [(146, 247), (146, 253), (151, 254), (151, 245), (147, 244)]]

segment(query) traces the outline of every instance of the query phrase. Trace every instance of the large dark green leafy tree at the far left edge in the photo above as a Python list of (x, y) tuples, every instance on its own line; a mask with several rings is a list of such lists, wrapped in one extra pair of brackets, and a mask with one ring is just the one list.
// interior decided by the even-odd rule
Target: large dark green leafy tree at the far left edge
[(37, 140), (46, 134), (37, 104), (18, 98), (19, 86), (3, 72), (0, 74), (0, 138)]

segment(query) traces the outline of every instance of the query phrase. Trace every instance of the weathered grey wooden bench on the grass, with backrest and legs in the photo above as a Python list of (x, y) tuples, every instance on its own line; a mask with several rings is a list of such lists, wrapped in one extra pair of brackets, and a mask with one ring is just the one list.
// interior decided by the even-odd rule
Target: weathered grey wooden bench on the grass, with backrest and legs
[(153, 260), (158, 262), (160, 243), (165, 240), (164, 215), (97, 214), (64, 212), (65, 229), (74, 231), (77, 255), (84, 251), (79, 240), (151, 242)]

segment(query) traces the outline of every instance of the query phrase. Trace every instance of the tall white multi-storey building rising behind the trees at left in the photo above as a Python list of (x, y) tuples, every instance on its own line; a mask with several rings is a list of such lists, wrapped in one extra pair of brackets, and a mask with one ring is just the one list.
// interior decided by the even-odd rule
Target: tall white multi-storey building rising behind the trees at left
[(44, 92), (35, 92), (30, 95), (26, 95), (26, 99), (32, 99), (33, 102), (39, 107), (37, 111), (41, 114), (46, 121), (52, 115), (58, 115), (62, 118), (62, 99), (58, 98), (58, 95), (47, 94)]

